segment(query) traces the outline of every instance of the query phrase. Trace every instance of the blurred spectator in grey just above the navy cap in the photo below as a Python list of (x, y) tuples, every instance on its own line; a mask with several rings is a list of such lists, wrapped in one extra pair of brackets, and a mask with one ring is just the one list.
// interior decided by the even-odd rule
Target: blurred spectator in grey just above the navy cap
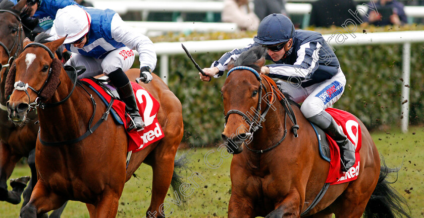
[(286, 0), (253, 0), (253, 4), (254, 12), (259, 21), (274, 13), (287, 15)]

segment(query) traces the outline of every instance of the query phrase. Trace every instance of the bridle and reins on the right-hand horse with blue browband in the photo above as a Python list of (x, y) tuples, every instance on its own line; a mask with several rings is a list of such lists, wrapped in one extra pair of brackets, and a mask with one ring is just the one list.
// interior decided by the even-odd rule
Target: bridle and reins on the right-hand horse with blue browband
[[(246, 69), (246, 70), (251, 71), (255, 75), (256, 79), (260, 83), (259, 89), (258, 89), (258, 102), (257, 102), (257, 106), (256, 106), (256, 111), (255, 111), (257, 113), (254, 113), (255, 114), (254, 117), (252, 118), (252, 120), (250, 120), (250, 117), (249, 116), (247, 116), (245, 113), (243, 113), (243, 112), (241, 112), (239, 110), (234, 110), (234, 109), (233, 110), (229, 110), (227, 112), (227, 114), (225, 115), (225, 124), (227, 124), (228, 117), (230, 116), (230, 114), (239, 114), (240, 116), (243, 117), (244, 120), (246, 120), (248, 122), (248, 124), (249, 124), (249, 132), (246, 133), (246, 135), (248, 136), (248, 138), (251, 138), (253, 136), (253, 133), (255, 131), (257, 131), (259, 128), (262, 128), (261, 123), (265, 121), (265, 116), (267, 115), (267, 113), (268, 113), (268, 111), (270, 109), (270, 104), (267, 104), (267, 108), (263, 111), (263, 113), (261, 113), (260, 115), (258, 115), (261, 112), (262, 90), (264, 90), (265, 93), (267, 93), (267, 87), (263, 85), (263, 83), (262, 83), (262, 77), (258, 74), (258, 72), (255, 69), (253, 69), (251, 67), (248, 67), (248, 66), (236, 66), (236, 67), (231, 68), (228, 71), (228, 73), (227, 73), (227, 77), (231, 74), (231, 72), (233, 72), (234, 70), (237, 70), (237, 69)], [(271, 87), (270, 82), (267, 81), (267, 83)], [(287, 98), (282, 93), (276, 94), (275, 93), (275, 90), (272, 89), (272, 87), (271, 87), (271, 90), (272, 90), (271, 100), (269, 100), (268, 102), (274, 102), (273, 98), (275, 96), (280, 96), (281, 97), (280, 102), (282, 103), (283, 108), (285, 110), (284, 126), (286, 126), (286, 124), (287, 124), (286, 117), (289, 116), (290, 120), (293, 122), (293, 126), (291, 127), (291, 130), (293, 131), (294, 137), (297, 137), (298, 136), (297, 135), (297, 129), (299, 129), (299, 125), (297, 125), (296, 117), (295, 117), (295, 114), (293, 112), (293, 109), (290, 106), (290, 103), (288, 102)], [(276, 144), (274, 144), (272, 147), (270, 147), (268, 149), (265, 149), (265, 150), (253, 150), (253, 149), (250, 149), (247, 146), (246, 143), (244, 144), (244, 146), (249, 151), (254, 152), (256, 154), (268, 152), (268, 151), (271, 151), (272, 149), (276, 148), (284, 140), (284, 138), (286, 137), (286, 135), (287, 135), (287, 128), (285, 128), (284, 134), (281, 137), (281, 139)]]

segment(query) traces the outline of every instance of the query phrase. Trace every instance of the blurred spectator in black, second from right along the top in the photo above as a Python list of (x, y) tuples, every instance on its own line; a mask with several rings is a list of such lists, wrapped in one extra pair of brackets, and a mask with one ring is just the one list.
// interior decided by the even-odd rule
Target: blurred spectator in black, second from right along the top
[(341, 26), (352, 19), (349, 9), (356, 11), (353, 0), (319, 0), (312, 3), (309, 25), (315, 27)]

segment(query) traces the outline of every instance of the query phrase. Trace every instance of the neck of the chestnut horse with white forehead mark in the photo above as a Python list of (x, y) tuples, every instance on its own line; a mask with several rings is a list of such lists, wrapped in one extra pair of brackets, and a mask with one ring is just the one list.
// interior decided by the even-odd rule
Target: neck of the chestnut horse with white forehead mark
[(87, 130), (88, 120), (93, 112), (89, 95), (78, 85), (63, 104), (48, 107), (48, 104), (64, 100), (73, 89), (74, 84), (64, 69), (60, 81), (55, 94), (46, 102), (47, 106), (37, 109), (41, 137), (46, 141), (61, 141), (80, 136)]

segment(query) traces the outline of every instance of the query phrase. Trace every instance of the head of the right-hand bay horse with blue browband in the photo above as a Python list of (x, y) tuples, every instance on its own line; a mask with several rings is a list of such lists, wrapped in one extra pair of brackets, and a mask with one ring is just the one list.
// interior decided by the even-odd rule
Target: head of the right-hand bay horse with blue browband
[(263, 85), (258, 72), (265, 62), (264, 54), (261, 46), (241, 53), (234, 66), (229, 65), (232, 69), (221, 89), (226, 119), (222, 138), (232, 154), (243, 151), (243, 143), (263, 121), (260, 117)]

